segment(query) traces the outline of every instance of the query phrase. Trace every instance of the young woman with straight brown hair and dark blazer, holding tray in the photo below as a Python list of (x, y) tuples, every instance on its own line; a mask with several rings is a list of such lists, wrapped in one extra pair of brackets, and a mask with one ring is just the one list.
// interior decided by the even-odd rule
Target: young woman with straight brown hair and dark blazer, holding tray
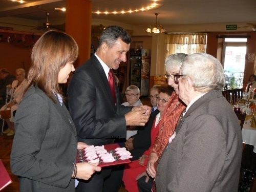
[(58, 83), (66, 83), (78, 56), (75, 40), (50, 30), (35, 43), (25, 95), (15, 115), (11, 171), (20, 191), (75, 191), (75, 178), (88, 180), (97, 164), (76, 163), (77, 142), (72, 118)]

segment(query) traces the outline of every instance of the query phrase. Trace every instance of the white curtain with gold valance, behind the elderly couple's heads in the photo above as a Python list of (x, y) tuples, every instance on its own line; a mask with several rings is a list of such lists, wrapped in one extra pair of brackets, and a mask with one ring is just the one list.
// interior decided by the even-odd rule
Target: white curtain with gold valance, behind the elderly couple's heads
[(206, 41), (207, 33), (167, 33), (165, 57), (174, 53), (205, 53)]

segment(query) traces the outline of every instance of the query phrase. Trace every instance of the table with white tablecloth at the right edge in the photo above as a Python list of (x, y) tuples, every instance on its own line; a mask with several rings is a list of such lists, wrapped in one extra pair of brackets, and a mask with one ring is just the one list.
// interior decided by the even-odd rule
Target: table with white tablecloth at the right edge
[(253, 145), (253, 152), (256, 153), (256, 128), (250, 126), (250, 120), (246, 120), (242, 129), (243, 142)]

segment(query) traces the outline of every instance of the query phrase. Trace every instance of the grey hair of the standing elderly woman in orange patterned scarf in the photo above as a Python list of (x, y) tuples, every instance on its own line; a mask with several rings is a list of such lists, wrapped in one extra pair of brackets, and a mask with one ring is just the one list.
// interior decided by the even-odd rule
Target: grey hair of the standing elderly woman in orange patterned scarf
[(180, 69), (184, 58), (187, 56), (185, 53), (175, 53), (165, 58), (165, 70), (176, 70)]

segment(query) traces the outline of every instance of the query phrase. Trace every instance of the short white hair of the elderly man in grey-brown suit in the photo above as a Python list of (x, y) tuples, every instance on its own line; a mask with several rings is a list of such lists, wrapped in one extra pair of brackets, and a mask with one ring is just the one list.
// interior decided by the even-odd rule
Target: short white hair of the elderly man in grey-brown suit
[(188, 76), (197, 91), (204, 93), (210, 90), (223, 90), (223, 67), (217, 58), (209, 54), (188, 55), (182, 63), (180, 74)]

